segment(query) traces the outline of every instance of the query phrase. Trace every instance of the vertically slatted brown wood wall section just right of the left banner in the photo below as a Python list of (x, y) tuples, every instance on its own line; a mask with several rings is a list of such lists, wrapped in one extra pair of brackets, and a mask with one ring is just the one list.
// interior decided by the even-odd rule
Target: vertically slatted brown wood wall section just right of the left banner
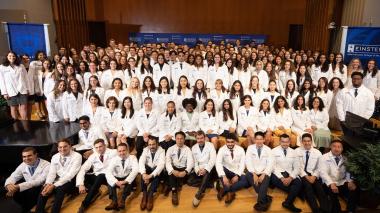
[(89, 42), (85, 0), (52, 0), (57, 45), (82, 49)]

